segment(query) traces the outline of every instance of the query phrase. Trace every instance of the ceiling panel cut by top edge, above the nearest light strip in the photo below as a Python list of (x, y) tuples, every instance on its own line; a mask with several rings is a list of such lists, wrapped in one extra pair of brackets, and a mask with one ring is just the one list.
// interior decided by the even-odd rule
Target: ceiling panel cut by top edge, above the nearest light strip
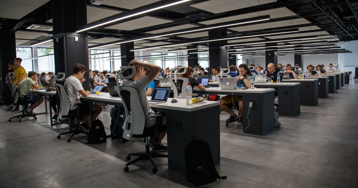
[(103, 0), (103, 5), (110, 5), (124, 9), (135, 9), (160, 0)]

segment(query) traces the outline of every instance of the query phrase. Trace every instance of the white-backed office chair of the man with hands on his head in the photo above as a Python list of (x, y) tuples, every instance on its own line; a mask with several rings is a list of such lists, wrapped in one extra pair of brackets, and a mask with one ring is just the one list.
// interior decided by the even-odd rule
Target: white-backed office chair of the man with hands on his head
[[(121, 67), (122, 75), (117, 76), (118, 79), (130, 79), (135, 76), (136, 68), (134, 66), (124, 66)], [(126, 112), (126, 119), (123, 125), (123, 138), (127, 140), (135, 140), (136, 138), (145, 138), (145, 152), (144, 153), (130, 153), (126, 156), (127, 160), (131, 159), (131, 156), (139, 156), (138, 158), (132, 160), (127, 163), (124, 167), (124, 171), (127, 172), (129, 170), (128, 166), (139, 162), (140, 160), (149, 160), (154, 168), (152, 169), (153, 173), (158, 171), (157, 166), (155, 165), (152, 158), (155, 157), (168, 157), (168, 155), (158, 154), (158, 153), (150, 153), (149, 151), (149, 141), (148, 137), (155, 138), (158, 135), (158, 129), (161, 125), (160, 117), (164, 114), (156, 114), (151, 116), (155, 118), (155, 129), (145, 130), (145, 115), (143, 111), (142, 104), (140, 102), (140, 98), (138, 92), (135, 88), (120, 86), (117, 83), (115, 86), (118, 95), (121, 97), (121, 100), (124, 101), (123, 106)]]

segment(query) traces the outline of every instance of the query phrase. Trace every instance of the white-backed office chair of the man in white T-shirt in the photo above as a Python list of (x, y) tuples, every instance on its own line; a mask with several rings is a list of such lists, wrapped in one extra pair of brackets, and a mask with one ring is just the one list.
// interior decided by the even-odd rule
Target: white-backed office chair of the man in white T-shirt
[[(59, 78), (58, 80), (60, 80), (61, 78)], [(63, 79), (63, 78), (62, 78)], [(71, 138), (75, 135), (75, 134), (79, 134), (79, 133), (83, 133), (83, 134), (86, 134), (87, 135), (87, 132), (85, 131), (82, 131), (80, 129), (78, 129), (78, 122), (80, 122), (80, 116), (79, 116), (79, 112), (81, 110), (80, 106), (77, 107), (77, 112), (76, 113), (71, 113), (69, 114), (69, 108), (70, 108), (70, 103), (69, 103), (69, 100), (68, 100), (68, 96), (67, 96), (67, 93), (65, 91), (65, 88), (61, 85), (61, 84), (58, 84), (58, 83), (53, 83), (53, 86), (56, 88), (56, 91), (57, 91), (57, 95), (59, 95), (59, 98), (60, 98), (60, 102), (61, 102), (61, 105), (60, 105), (60, 109), (58, 110), (58, 117), (60, 119), (69, 119), (69, 131), (67, 132), (63, 132), (61, 134), (59, 134), (57, 136), (58, 139), (61, 138), (61, 135), (65, 135), (65, 134), (71, 134), (71, 136), (68, 138), (67, 142), (71, 142)], [(76, 103), (75, 105), (81, 105), (83, 104), (83, 102), (79, 102), (79, 103)], [(71, 127), (71, 122), (74, 120), (74, 130), (72, 130), (72, 127)]]

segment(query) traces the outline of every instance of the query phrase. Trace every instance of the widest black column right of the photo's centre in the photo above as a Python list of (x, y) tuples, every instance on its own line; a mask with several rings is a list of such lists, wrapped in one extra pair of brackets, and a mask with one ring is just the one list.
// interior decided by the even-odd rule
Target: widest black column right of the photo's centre
[[(227, 36), (225, 28), (210, 29), (209, 40)], [(226, 40), (209, 42), (209, 67), (217, 66), (228, 68)]]

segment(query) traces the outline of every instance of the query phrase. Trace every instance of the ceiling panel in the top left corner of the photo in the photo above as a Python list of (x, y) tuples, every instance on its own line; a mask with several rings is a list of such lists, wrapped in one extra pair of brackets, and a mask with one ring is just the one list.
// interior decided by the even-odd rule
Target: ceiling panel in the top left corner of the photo
[(21, 19), (49, 0), (1, 0), (0, 18)]

